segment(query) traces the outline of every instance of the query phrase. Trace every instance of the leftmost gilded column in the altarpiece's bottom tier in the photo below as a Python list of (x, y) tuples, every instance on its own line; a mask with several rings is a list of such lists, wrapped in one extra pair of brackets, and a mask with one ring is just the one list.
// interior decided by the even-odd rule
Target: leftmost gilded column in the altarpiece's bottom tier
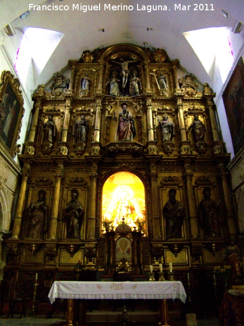
[(22, 212), (24, 209), (25, 191), (26, 191), (27, 181), (29, 178), (29, 170), (30, 170), (29, 165), (24, 166), (22, 172), (21, 185), (20, 185), (20, 194), (18, 198), (16, 214), (14, 217), (14, 224), (13, 224), (12, 237), (11, 237), (12, 239), (19, 239), (19, 235), (20, 235), (20, 226), (22, 220)]

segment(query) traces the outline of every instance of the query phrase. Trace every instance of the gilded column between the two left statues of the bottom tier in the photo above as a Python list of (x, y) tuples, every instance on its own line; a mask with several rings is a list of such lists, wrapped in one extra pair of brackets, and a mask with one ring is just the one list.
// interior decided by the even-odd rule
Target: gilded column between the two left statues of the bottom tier
[[(62, 165), (60, 166), (62, 170)], [(63, 178), (62, 171), (58, 171), (59, 173), (55, 174), (55, 189), (54, 189), (54, 196), (53, 196), (53, 209), (52, 215), (50, 219), (50, 226), (49, 226), (49, 240), (57, 239), (57, 225), (58, 225), (58, 215), (59, 215), (59, 202), (60, 202), (60, 188), (61, 188), (61, 180)]]

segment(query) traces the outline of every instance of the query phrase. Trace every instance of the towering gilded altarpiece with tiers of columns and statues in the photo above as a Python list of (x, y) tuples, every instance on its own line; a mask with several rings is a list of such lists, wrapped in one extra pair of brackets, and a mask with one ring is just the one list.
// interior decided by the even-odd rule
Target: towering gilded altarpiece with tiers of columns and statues
[[(58, 280), (75, 280), (82, 278), (80, 261), (83, 272), (113, 279), (118, 237), (131, 243), (134, 279), (146, 279), (149, 265), (157, 271), (162, 263), (166, 271), (172, 262), (184, 284), (189, 272), (209, 282), (214, 266), (223, 263), (226, 241), (238, 231), (215, 93), (184, 75), (178, 60), (159, 59), (156, 52), (130, 44), (89, 52), (85, 61), (69, 61), (66, 88), (40, 85), (33, 94), (6, 275), (11, 269), (16, 278), (27, 278), (35, 271), (45, 279), (53, 272)], [(142, 181), (144, 210), (137, 215), (131, 200), (116, 224), (118, 217), (103, 213), (102, 194), (105, 182), (120, 173)], [(45, 191), (47, 210), (37, 239), (27, 237), (27, 211), (39, 190)], [(205, 225), (203, 199), (216, 205), (215, 229)], [(170, 207), (176, 203), (175, 215)], [(74, 224), (76, 238), (73, 231), (67, 238), (69, 205), (74, 223), (82, 216), (81, 225)], [(128, 217), (133, 227), (127, 228)]]

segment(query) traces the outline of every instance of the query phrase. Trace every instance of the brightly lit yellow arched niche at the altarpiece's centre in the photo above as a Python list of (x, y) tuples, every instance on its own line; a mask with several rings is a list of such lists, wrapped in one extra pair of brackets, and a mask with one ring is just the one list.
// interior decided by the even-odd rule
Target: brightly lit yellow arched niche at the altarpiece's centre
[(112, 174), (103, 185), (102, 232), (108, 231), (105, 225), (115, 229), (123, 218), (132, 230), (141, 230), (146, 235), (144, 185), (129, 172)]

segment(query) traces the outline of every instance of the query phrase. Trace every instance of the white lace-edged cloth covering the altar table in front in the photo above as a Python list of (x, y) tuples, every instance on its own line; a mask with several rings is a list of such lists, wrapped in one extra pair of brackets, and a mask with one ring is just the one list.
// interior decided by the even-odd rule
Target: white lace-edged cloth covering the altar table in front
[(55, 281), (48, 298), (61, 299), (180, 299), (186, 294), (180, 281), (165, 282), (78, 282)]

